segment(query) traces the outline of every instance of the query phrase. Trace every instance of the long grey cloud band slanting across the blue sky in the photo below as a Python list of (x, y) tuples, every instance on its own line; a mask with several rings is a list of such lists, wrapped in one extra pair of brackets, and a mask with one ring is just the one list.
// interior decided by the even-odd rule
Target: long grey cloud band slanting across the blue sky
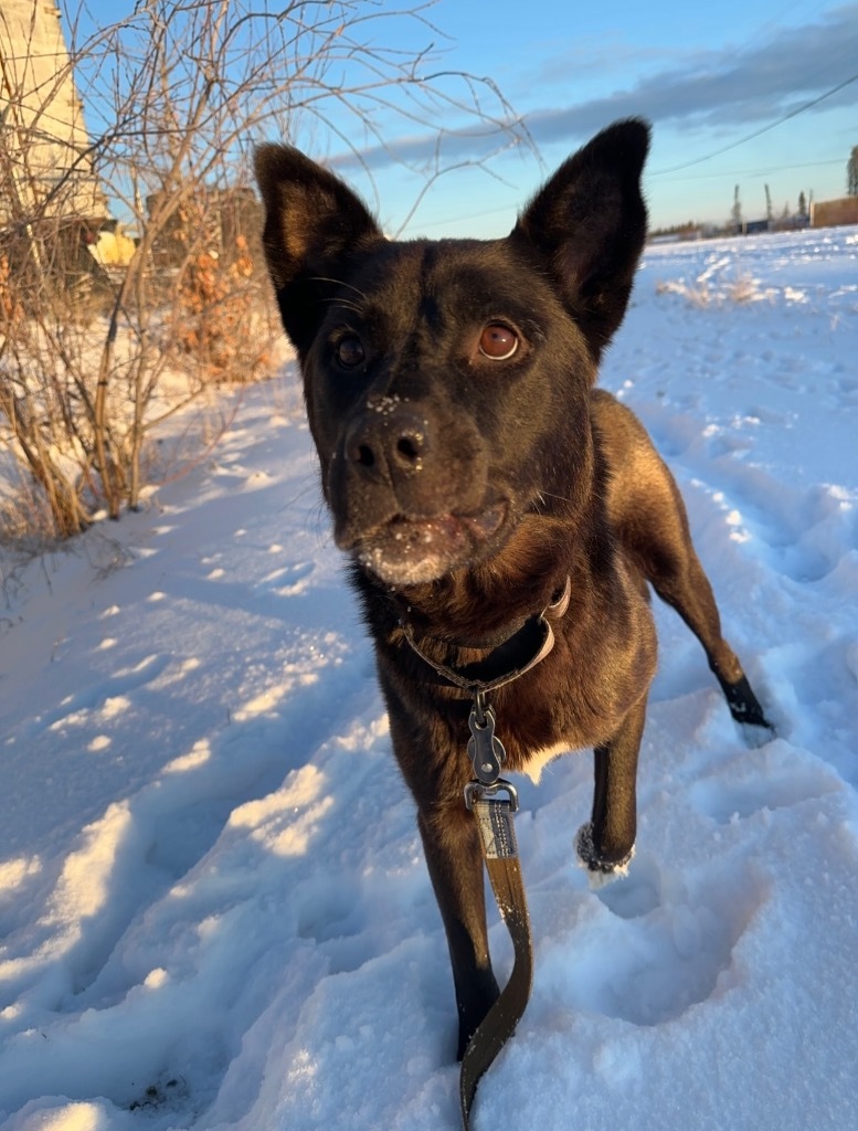
[[(697, 53), (682, 66), (642, 78), (634, 86), (575, 106), (536, 110), (523, 122), (538, 145), (578, 143), (616, 118), (641, 114), (678, 128), (747, 128), (786, 114), (858, 71), (858, 5), (824, 14), (816, 23), (779, 32), (744, 50)], [(858, 81), (831, 105), (858, 103)], [(813, 112), (813, 111), (812, 111)], [(447, 162), (479, 157), (497, 138), (474, 130), (419, 136), (365, 150), (373, 167), (391, 162), (424, 163), (440, 152)]]

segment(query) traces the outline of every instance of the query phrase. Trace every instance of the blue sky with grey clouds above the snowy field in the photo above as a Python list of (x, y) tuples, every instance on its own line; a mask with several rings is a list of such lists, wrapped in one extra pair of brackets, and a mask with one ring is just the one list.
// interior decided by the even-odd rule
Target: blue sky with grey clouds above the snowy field
[[(90, 0), (88, 8), (113, 21), (131, 5)], [(547, 172), (630, 114), (653, 124), (645, 178), (653, 226), (723, 223), (736, 184), (746, 218), (765, 214), (766, 183), (777, 213), (795, 209), (801, 191), (817, 200), (846, 192), (846, 164), (858, 145), (858, 3), (437, 0), (426, 16), (443, 36), (396, 19), (379, 21), (373, 34), (406, 51), (434, 41), (443, 69), (493, 78), (538, 154), (519, 146), (485, 169), (440, 178), (406, 235), (503, 234)], [(479, 143), (456, 136), (473, 122), (445, 111), (443, 124), (451, 131), (443, 143), (450, 161), (479, 156)], [(432, 133), (401, 119), (384, 127), (392, 152), (411, 170), (422, 166)], [(341, 171), (397, 231), (418, 181), (388, 153), (353, 138), (375, 192), (353, 163), (344, 161)], [(298, 140), (313, 155), (345, 152), (318, 128)]]

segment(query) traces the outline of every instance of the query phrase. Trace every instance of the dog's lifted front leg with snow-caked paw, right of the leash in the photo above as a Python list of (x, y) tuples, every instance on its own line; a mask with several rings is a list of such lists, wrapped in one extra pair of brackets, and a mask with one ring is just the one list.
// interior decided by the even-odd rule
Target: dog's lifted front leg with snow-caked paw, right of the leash
[(593, 750), (592, 818), (579, 830), (575, 848), (597, 884), (623, 875), (634, 855), (638, 751), (645, 717), (644, 696), (629, 711), (614, 737)]

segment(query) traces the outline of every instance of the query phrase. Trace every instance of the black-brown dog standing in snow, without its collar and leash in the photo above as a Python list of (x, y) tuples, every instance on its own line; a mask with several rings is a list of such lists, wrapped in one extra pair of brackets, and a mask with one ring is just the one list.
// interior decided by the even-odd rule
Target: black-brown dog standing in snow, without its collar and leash
[(639, 120), (609, 127), (493, 241), (388, 241), (331, 173), (295, 149), (258, 153), (269, 271), (417, 804), (460, 1055), (499, 993), (462, 803), (470, 699), (411, 650), (402, 621), (436, 662), (514, 668), (508, 641), (570, 579), (554, 649), (491, 702), (505, 771), (595, 749), (578, 846), (596, 874), (634, 846), (656, 668), (647, 581), (699, 637), (734, 716), (768, 725), (721, 637), (670, 473), (632, 413), (593, 388), (643, 247), (648, 144)]

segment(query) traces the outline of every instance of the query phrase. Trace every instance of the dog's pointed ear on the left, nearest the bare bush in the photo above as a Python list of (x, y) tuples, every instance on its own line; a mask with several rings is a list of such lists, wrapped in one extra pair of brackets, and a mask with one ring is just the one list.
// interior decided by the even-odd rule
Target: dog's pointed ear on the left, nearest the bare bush
[(254, 164), (268, 274), (283, 325), (303, 357), (349, 260), (383, 235), (363, 201), (298, 149), (262, 145)]

